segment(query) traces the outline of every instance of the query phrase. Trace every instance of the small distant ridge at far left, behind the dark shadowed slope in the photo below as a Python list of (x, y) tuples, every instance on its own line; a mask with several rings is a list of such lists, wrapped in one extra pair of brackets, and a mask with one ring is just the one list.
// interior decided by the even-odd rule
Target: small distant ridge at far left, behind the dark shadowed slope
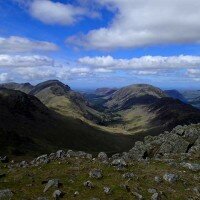
[(29, 93), (34, 86), (31, 85), (30, 83), (4, 83), (4, 84), (0, 84), (0, 87), (4, 87), (7, 89), (12, 89), (12, 90), (19, 90), (21, 92), (25, 92), (25, 93)]

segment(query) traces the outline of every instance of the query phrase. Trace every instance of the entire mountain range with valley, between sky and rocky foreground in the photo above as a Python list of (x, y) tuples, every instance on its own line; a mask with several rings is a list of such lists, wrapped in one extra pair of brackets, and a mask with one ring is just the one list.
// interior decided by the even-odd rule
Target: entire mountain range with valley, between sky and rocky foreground
[[(169, 97), (172, 96), (173, 98)], [(127, 150), (146, 135), (200, 122), (176, 91), (147, 84), (81, 95), (58, 80), (0, 85), (0, 151), (33, 155), (57, 148)]]

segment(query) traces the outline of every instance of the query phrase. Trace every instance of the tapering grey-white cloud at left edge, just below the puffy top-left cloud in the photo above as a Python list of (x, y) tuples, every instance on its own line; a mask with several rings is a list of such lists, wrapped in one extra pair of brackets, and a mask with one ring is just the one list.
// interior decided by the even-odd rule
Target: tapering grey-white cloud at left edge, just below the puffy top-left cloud
[(0, 53), (24, 53), (34, 51), (56, 51), (58, 46), (45, 41), (30, 40), (24, 37), (0, 37)]

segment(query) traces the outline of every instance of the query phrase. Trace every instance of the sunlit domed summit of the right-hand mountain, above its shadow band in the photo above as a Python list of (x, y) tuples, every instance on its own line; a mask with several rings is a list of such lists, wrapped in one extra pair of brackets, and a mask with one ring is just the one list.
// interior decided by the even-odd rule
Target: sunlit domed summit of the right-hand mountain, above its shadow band
[(130, 85), (111, 95), (106, 106), (112, 110), (123, 110), (136, 104), (150, 104), (162, 97), (166, 94), (159, 88), (147, 84)]

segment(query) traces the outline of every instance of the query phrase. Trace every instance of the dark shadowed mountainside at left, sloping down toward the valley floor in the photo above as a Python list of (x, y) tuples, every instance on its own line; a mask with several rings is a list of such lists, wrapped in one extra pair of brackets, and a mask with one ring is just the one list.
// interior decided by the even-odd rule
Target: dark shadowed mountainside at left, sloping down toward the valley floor
[(115, 152), (132, 144), (130, 137), (63, 117), (20, 91), (0, 88), (0, 110), (1, 155), (33, 156), (60, 148)]

